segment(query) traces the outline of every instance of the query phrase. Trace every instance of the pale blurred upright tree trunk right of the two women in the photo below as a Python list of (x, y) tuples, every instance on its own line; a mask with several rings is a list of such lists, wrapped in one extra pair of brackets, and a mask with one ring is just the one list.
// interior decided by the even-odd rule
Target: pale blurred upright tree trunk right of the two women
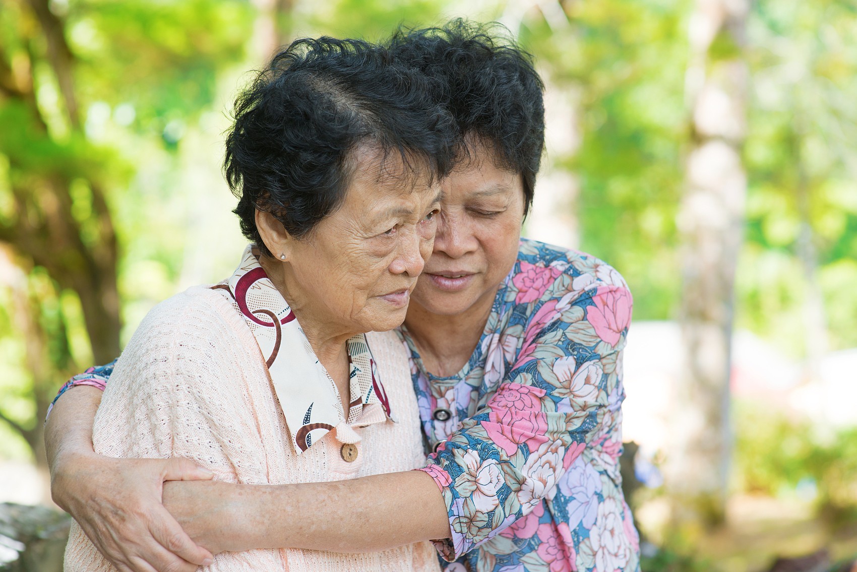
[(675, 443), (665, 471), (674, 518), (714, 524), (725, 516), (731, 435), (730, 343), (734, 273), (743, 239), (748, 72), (742, 57), (746, 0), (698, 0), (690, 23), (686, 92), (692, 148), (678, 226), (680, 326), (685, 368), (676, 392)]

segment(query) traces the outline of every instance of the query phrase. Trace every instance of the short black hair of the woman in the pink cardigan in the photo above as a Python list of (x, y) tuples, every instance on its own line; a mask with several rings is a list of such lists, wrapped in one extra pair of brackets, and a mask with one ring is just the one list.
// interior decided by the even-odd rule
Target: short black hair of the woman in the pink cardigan
[(297, 39), (280, 51), (237, 97), (226, 137), (243, 234), (271, 254), (260, 209), (307, 235), (344, 199), (359, 145), (399, 153), (418, 176), (446, 176), (458, 132), (438, 81), (359, 39)]

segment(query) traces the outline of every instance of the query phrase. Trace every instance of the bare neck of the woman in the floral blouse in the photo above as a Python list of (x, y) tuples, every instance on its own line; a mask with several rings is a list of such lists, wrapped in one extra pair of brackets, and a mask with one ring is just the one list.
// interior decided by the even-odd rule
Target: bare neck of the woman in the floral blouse
[(492, 289), (464, 312), (448, 315), (431, 313), (411, 300), (405, 327), (428, 372), (447, 377), (464, 367), (482, 337), (496, 294)]

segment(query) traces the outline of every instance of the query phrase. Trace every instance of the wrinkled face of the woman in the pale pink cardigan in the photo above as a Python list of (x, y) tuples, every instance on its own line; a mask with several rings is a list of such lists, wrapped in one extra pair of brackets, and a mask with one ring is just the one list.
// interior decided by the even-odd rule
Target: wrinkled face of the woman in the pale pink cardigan
[(299, 320), (312, 319), (331, 335), (385, 331), (404, 321), (440, 206), (440, 186), (412, 176), (396, 153), (382, 163), (380, 153), (362, 148), (354, 160), (342, 205), (284, 247), (286, 300)]

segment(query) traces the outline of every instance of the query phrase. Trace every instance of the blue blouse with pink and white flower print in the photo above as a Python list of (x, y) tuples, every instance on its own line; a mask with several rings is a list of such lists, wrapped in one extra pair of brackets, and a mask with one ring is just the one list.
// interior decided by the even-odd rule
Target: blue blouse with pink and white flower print
[[(638, 572), (619, 469), (631, 310), (611, 266), (522, 239), (458, 374), (426, 372), (403, 327), (434, 450), (419, 470), (440, 488), (452, 528), (435, 542), (446, 572)], [(103, 384), (111, 366), (60, 395)]]

